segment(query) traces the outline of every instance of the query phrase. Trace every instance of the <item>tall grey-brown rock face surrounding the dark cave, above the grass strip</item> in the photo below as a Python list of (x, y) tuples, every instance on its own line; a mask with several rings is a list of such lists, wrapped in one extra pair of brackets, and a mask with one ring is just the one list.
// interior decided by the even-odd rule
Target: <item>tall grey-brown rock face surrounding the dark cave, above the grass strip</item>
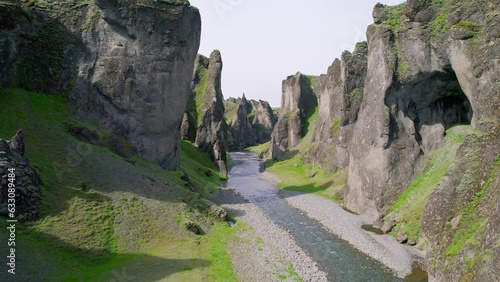
[[(377, 5), (376, 24), (367, 32), (368, 72), (349, 145), (345, 200), (347, 208), (373, 217), (422, 173), (422, 157), (442, 145), (444, 130), (461, 123), (472, 123), (476, 129), (498, 123), (493, 109), (500, 103), (494, 82), (499, 46), (492, 41), (498, 27), (486, 22), (477, 7), (458, 3), (452, 10), (462, 13), (451, 14), (461, 18), (454, 24), (450, 16), (451, 28), (429, 31), (417, 21), (427, 6), (413, 2), (418, 9)], [(432, 14), (440, 12), (433, 9)], [(411, 17), (401, 18), (395, 28), (389, 19), (398, 11), (405, 11), (400, 17)], [(471, 29), (477, 27), (471, 24), (458, 24), (464, 21), (484, 25), (484, 34), (474, 33)], [(484, 44), (454, 36), (460, 32), (472, 32)]]

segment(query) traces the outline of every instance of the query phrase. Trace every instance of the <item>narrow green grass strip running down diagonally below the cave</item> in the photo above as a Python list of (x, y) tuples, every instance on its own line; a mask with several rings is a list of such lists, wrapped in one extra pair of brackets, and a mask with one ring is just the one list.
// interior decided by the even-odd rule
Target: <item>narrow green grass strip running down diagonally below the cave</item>
[(455, 126), (446, 131), (445, 145), (427, 156), (427, 169), (408, 186), (390, 208), (388, 218), (396, 220), (396, 229), (417, 240), (429, 197), (453, 163), (456, 150), (464, 142), (470, 126)]

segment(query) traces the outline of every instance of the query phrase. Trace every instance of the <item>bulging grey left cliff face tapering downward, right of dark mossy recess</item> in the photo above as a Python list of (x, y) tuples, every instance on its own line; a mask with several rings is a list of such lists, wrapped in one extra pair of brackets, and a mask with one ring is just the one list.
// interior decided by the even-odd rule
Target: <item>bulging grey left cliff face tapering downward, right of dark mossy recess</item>
[(72, 102), (81, 117), (99, 118), (146, 160), (176, 169), (179, 127), (200, 40), (199, 13), (135, 1), (96, 4), (102, 19), (86, 38), (90, 54), (79, 66)]

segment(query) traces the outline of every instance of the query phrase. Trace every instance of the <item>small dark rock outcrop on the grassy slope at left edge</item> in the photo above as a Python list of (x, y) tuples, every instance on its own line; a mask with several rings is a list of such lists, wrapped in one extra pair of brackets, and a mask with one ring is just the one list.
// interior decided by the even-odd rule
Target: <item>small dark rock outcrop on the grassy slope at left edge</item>
[[(40, 178), (24, 156), (24, 133), (19, 130), (10, 140), (0, 139), (0, 215), (17, 220), (36, 220), (40, 216)], [(12, 169), (14, 169), (12, 171)], [(9, 199), (15, 199), (15, 208)]]

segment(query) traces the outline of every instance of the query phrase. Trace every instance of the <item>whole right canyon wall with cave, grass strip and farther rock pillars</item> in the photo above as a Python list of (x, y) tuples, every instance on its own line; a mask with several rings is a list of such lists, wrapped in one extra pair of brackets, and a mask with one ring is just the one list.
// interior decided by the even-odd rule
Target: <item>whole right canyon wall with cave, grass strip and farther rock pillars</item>
[[(433, 281), (500, 275), (498, 10), (377, 4), (367, 42), (320, 78), (314, 143), (296, 147), (313, 166), (345, 167), (345, 207), (427, 251)], [(297, 79), (284, 82), (274, 159), (301, 137)]]

